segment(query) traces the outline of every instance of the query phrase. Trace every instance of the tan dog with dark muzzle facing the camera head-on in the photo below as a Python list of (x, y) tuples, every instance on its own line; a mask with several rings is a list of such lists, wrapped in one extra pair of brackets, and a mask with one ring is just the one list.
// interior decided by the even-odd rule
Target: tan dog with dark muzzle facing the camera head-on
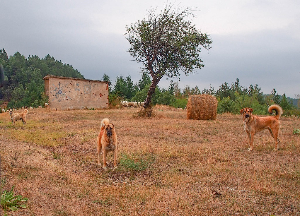
[(97, 137), (97, 151), (98, 151), (98, 166), (101, 167), (100, 153), (103, 150), (103, 170), (106, 170), (107, 153), (113, 152), (113, 169), (117, 168), (117, 134), (113, 124), (110, 120), (104, 118), (101, 121), (101, 130)]

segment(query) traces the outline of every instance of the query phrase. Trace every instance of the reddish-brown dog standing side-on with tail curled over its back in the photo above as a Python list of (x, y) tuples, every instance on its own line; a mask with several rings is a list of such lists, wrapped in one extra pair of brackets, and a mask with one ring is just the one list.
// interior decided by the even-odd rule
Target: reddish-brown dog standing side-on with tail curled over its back
[(275, 140), (274, 151), (279, 149), (278, 142), (280, 144), (280, 140), (278, 139), (278, 134), (280, 130), (280, 121), (278, 119), (282, 114), (282, 108), (276, 104), (269, 106), (268, 112), (270, 114), (272, 114), (273, 110), (276, 111), (276, 115), (266, 117), (252, 115), (252, 108), (244, 108), (240, 110), (240, 113), (243, 115), (244, 130), (246, 131), (249, 139), (249, 151), (252, 151), (253, 149), (254, 134), (264, 129), (268, 129)]

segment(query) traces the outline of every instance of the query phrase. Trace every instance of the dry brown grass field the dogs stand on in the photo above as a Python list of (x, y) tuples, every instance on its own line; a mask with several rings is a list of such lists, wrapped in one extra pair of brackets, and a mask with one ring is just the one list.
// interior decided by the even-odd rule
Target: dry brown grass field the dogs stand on
[[(0, 114), (2, 190), (29, 199), (8, 215), (300, 215), (299, 118), (280, 118), (280, 150), (265, 130), (249, 152), (239, 114), (154, 111), (42, 108), (15, 127)], [(107, 170), (97, 166), (104, 117), (118, 135), (116, 170), (111, 152)]]

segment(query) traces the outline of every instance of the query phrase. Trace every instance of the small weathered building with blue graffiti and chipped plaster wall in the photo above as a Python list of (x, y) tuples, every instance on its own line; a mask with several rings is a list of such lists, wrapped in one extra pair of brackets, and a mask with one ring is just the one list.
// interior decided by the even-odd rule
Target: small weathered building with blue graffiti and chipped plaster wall
[(107, 81), (46, 75), (45, 94), (51, 110), (107, 108)]

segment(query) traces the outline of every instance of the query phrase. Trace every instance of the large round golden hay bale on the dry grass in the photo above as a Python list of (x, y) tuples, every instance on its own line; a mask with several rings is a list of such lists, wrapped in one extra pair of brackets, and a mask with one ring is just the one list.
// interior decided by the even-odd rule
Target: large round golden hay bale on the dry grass
[(215, 120), (218, 101), (208, 94), (190, 95), (187, 101), (187, 119)]

